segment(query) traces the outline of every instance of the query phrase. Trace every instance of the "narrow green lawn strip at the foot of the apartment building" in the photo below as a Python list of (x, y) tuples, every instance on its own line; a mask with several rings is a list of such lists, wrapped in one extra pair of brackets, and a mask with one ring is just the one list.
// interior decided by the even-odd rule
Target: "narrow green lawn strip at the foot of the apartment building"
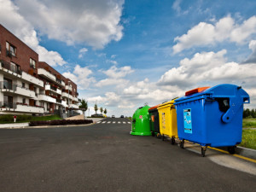
[[(31, 115), (17, 115), (16, 123), (26, 123), (30, 121), (38, 120), (55, 120), (61, 119), (58, 115), (49, 115), (49, 116), (31, 116)], [(11, 124), (14, 123), (14, 117), (11, 114), (6, 114), (0, 116), (0, 124)]]

